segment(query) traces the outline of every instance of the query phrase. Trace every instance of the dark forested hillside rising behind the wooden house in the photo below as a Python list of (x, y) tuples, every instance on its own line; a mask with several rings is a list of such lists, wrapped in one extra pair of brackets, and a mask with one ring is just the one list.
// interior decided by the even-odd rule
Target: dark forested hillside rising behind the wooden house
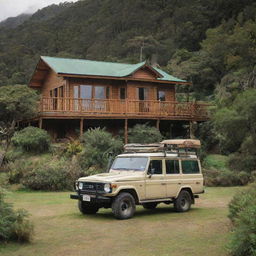
[(192, 80), (203, 98), (237, 65), (251, 72), (252, 63), (243, 59), (253, 57), (250, 50), (236, 52), (230, 43), (239, 28), (234, 44), (240, 47), (240, 38), (241, 47), (254, 43), (254, 18), (253, 0), (83, 0), (49, 6), (13, 29), (0, 28), (0, 84), (26, 83), (39, 55), (138, 62), (144, 44), (144, 59), (168, 64), (169, 71)]

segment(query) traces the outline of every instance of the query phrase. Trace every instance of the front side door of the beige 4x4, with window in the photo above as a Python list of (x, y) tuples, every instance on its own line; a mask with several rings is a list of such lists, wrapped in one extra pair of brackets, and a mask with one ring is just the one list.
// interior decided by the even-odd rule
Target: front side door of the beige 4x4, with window
[(146, 199), (158, 199), (166, 197), (166, 182), (163, 172), (163, 160), (151, 159), (149, 170), (153, 170), (153, 174), (146, 175)]

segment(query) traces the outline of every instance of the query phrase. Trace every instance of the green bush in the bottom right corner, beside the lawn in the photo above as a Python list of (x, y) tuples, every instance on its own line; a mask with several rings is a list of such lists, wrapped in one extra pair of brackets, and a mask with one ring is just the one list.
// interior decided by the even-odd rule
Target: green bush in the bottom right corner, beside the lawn
[(233, 256), (256, 254), (256, 186), (234, 196), (229, 204), (229, 218), (234, 224), (230, 251)]

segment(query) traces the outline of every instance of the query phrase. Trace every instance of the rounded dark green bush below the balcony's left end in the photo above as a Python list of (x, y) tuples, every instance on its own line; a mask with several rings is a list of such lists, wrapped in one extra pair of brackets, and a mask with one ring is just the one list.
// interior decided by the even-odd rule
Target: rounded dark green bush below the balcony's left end
[(12, 143), (25, 152), (42, 153), (50, 148), (50, 136), (45, 130), (36, 127), (26, 127), (18, 131), (12, 138)]

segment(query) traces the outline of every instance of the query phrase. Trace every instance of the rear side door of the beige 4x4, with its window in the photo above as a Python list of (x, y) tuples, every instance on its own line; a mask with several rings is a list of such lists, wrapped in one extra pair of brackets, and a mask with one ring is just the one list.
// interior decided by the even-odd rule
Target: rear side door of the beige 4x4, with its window
[(175, 197), (181, 186), (180, 164), (178, 159), (165, 159), (166, 194)]

